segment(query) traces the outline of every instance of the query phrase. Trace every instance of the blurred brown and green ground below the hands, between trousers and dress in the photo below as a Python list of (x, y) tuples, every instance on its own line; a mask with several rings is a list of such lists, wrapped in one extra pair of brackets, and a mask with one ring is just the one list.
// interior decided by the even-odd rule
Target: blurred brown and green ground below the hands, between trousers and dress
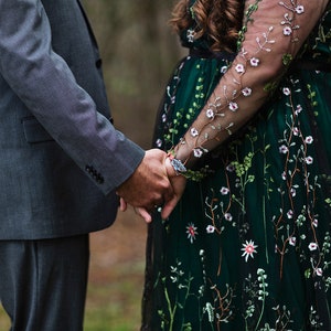
[[(90, 235), (86, 331), (136, 331), (141, 320), (147, 225), (132, 210)], [(90, 325), (104, 321), (103, 327)]]

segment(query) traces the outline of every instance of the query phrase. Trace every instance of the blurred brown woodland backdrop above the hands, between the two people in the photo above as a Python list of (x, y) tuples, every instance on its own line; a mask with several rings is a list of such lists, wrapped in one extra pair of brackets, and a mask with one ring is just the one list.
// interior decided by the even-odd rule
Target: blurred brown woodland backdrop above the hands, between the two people
[(115, 126), (149, 148), (157, 108), (182, 56), (172, 0), (84, 0), (104, 63)]

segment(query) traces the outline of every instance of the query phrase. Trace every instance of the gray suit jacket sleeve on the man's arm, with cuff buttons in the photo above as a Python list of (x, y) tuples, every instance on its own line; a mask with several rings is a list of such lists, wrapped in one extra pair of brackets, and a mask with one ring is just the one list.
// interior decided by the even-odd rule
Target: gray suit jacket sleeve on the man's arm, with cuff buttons
[[(40, 0), (0, 0), (0, 74), (13, 93), (108, 194), (135, 171), (145, 151), (117, 131), (52, 49)], [(10, 111), (10, 109), (8, 110)]]

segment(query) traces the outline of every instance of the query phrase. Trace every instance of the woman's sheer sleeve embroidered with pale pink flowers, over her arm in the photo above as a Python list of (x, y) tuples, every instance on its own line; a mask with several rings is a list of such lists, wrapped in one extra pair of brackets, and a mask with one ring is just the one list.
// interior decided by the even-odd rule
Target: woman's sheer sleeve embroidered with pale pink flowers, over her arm
[(244, 126), (264, 105), (328, 0), (249, 0), (239, 51), (200, 115), (174, 148), (189, 168)]

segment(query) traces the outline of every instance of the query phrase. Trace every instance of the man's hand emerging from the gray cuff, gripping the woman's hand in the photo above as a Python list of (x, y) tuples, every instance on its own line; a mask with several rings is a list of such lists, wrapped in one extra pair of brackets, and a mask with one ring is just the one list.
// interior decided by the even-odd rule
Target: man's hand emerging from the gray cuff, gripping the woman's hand
[(173, 189), (166, 169), (167, 153), (148, 150), (132, 175), (118, 189), (117, 194), (134, 207), (152, 211), (173, 199)]

